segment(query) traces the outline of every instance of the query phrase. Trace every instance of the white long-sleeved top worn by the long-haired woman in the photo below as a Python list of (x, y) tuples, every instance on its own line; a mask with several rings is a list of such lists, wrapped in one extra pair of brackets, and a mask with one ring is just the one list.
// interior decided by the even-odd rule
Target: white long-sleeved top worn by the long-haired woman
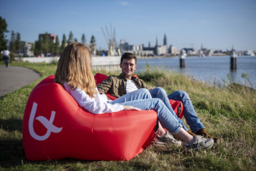
[(78, 102), (80, 107), (94, 114), (110, 113), (123, 111), (124, 106), (121, 104), (108, 103), (107, 96), (100, 94), (96, 88), (97, 94), (95, 97), (90, 97), (84, 90), (76, 88), (72, 90), (67, 83), (64, 83), (64, 88)]

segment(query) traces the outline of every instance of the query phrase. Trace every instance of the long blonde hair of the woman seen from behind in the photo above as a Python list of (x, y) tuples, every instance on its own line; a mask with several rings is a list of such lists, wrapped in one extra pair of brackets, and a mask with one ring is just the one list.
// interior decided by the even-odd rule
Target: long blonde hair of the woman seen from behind
[(55, 74), (55, 83), (67, 82), (71, 89), (80, 88), (94, 97), (96, 83), (91, 70), (91, 52), (79, 42), (68, 44), (60, 55)]

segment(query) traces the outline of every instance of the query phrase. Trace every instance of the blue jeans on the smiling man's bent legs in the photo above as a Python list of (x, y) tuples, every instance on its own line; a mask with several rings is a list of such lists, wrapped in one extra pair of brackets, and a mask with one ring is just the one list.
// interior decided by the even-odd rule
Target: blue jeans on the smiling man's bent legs
[(186, 119), (186, 123), (189, 125), (192, 132), (196, 133), (200, 129), (205, 128), (197, 117), (197, 113), (194, 111), (189, 95), (185, 91), (176, 91), (167, 96), (163, 88), (156, 87), (151, 89), (149, 92), (151, 93), (152, 98), (159, 98), (164, 102), (170, 113), (172, 113), (186, 131), (188, 131), (188, 128), (185, 127), (183, 121), (178, 118), (176, 113), (173, 111), (172, 106), (169, 103), (169, 99), (181, 101), (183, 104), (183, 114)]

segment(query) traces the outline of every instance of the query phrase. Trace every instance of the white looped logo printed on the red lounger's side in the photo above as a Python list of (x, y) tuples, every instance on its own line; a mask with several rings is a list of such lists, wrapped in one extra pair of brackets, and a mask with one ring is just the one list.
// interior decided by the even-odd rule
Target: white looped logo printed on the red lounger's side
[[(37, 103), (34, 102), (32, 105), (32, 110), (31, 110), (30, 117), (29, 117), (29, 133), (34, 139), (36, 139), (38, 141), (44, 141), (44, 140), (48, 139), (51, 132), (59, 133), (60, 131), (62, 131), (62, 127), (58, 128), (52, 124), (54, 121), (54, 117), (55, 117), (55, 111), (51, 111), (50, 120), (47, 120), (46, 117), (44, 117), (44, 116), (38, 116), (35, 118), (36, 108), (37, 108)], [(33, 127), (34, 119), (38, 120), (40, 123), (42, 123), (44, 125), (44, 127), (46, 127), (47, 132), (45, 135), (39, 136), (35, 133), (34, 127)]]

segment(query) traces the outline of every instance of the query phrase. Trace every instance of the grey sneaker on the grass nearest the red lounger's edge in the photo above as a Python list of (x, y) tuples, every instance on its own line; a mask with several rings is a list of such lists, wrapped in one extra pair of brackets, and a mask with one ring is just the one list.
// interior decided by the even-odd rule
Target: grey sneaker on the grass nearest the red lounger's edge
[(156, 135), (154, 142), (155, 144), (161, 144), (161, 145), (166, 145), (169, 143), (172, 143), (173, 145), (176, 145), (176, 146), (182, 145), (181, 141), (174, 139), (174, 137), (168, 131), (165, 132), (164, 136)]

